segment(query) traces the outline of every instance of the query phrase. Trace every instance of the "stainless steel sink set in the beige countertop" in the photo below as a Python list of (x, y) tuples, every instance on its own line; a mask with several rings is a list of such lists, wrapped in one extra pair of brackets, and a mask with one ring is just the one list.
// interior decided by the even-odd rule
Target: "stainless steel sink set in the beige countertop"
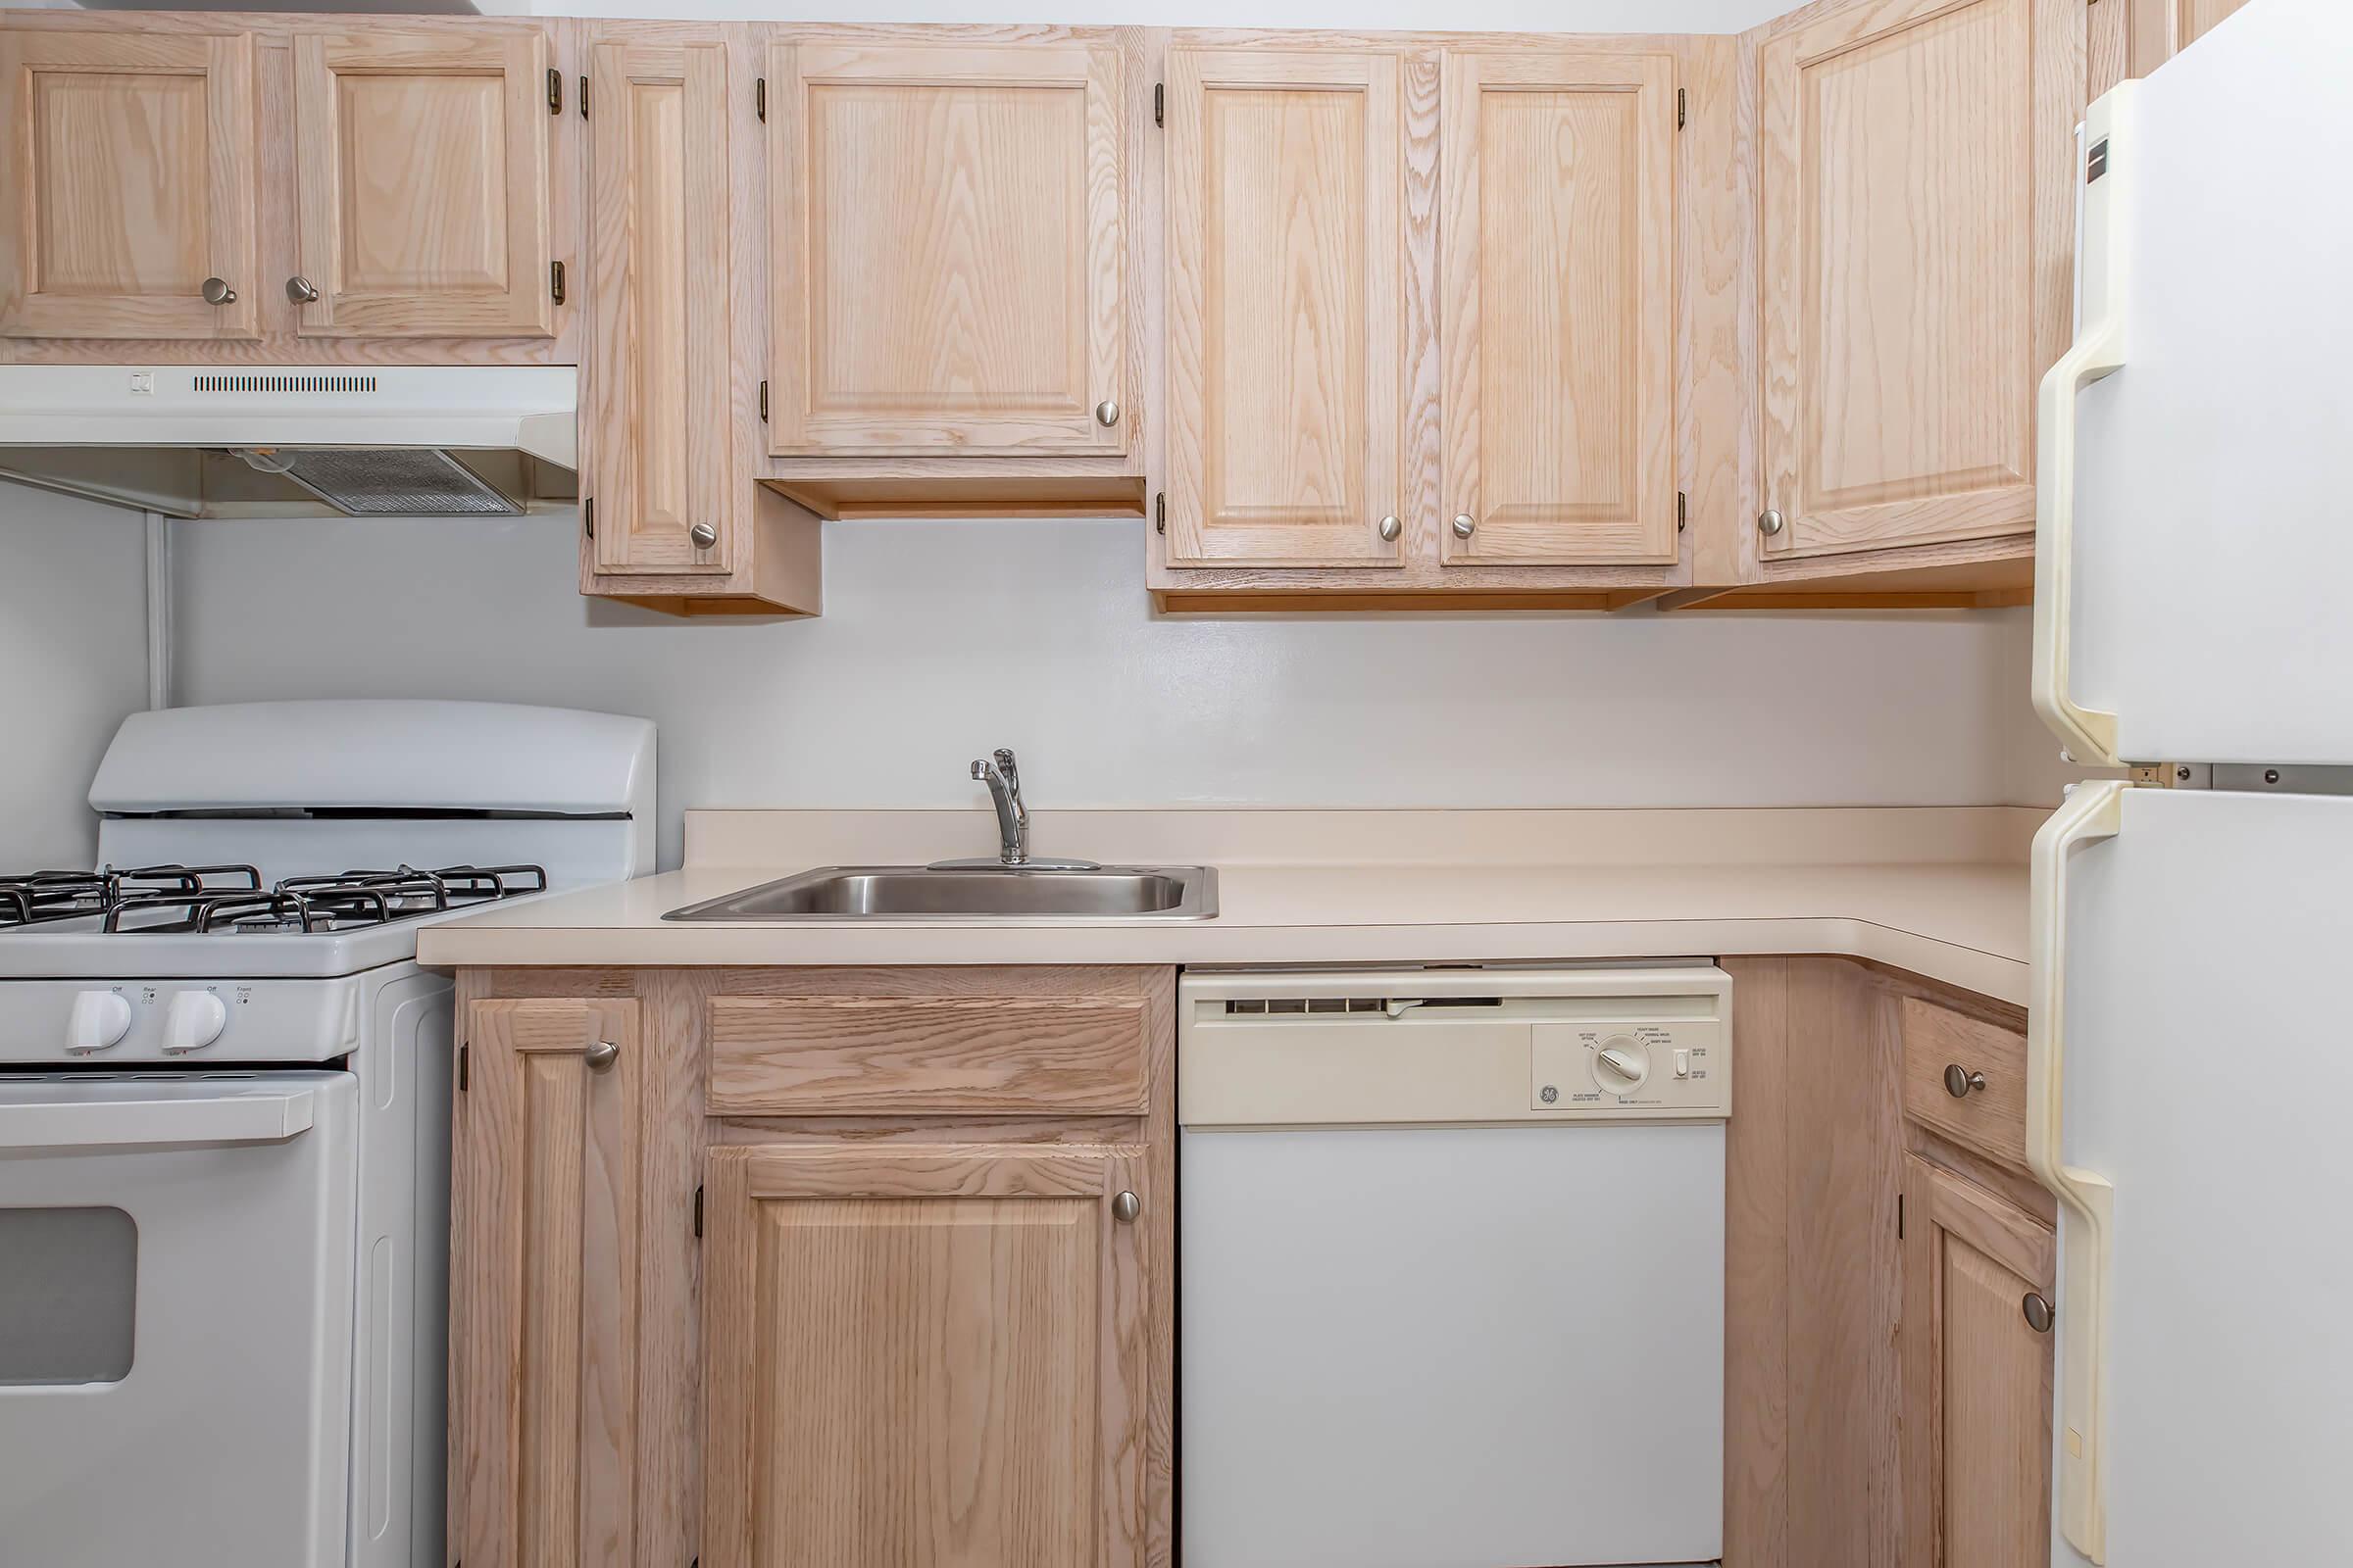
[(1207, 865), (821, 865), (661, 919), (1214, 919)]

